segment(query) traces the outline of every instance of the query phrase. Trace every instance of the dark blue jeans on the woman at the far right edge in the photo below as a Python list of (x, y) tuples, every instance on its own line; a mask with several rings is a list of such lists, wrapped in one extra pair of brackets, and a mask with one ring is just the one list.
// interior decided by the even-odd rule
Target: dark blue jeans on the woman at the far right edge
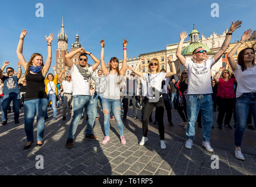
[(256, 93), (243, 93), (243, 95), (236, 99), (237, 126), (234, 137), (235, 146), (237, 147), (241, 146), (243, 140), (250, 107), (254, 124), (256, 124)]

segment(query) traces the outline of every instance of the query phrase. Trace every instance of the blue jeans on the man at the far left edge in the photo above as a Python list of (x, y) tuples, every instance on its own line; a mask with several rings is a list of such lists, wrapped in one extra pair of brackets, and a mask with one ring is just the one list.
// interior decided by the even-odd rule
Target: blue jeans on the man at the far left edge
[(5, 94), (3, 101), (2, 101), (2, 121), (7, 121), (7, 110), (8, 107), (13, 101), (13, 110), (14, 110), (14, 120), (15, 122), (19, 121), (19, 100), (20, 94), (19, 93), (9, 93)]

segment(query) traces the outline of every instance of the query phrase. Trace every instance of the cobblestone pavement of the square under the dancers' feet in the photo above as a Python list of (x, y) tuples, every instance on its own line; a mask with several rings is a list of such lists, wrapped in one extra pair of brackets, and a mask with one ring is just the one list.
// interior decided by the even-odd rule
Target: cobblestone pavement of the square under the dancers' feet
[[(110, 142), (103, 139), (103, 116), (98, 110), (99, 120), (95, 123), (94, 134), (99, 140), (85, 139), (86, 120), (80, 120), (74, 147), (65, 148), (70, 115), (63, 121), (58, 109), (58, 120), (47, 120), (44, 145), (36, 147), (36, 141), (29, 150), (26, 144), (23, 112), (20, 124), (13, 121), (13, 113), (8, 114), (9, 122), (0, 126), (0, 175), (255, 175), (256, 150), (243, 141), (245, 161), (234, 157), (234, 129), (212, 130), (214, 153), (201, 147), (200, 133), (196, 127), (196, 138), (192, 150), (184, 147), (185, 130), (178, 126), (181, 122), (176, 110), (172, 110), (174, 126), (168, 126), (165, 114), (166, 150), (161, 150), (157, 126), (149, 124), (148, 141), (139, 146), (141, 122), (127, 116), (124, 122), (124, 137), (127, 144), (120, 143), (115, 120), (110, 121)], [(23, 110), (22, 110), (23, 111)], [(138, 112), (140, 114), (140, 111)], [(52, 111), (49, 112), (52, 119)], [(214, 116), (216, 117), (216, 114)], [(129, 108), (132, 115), (132, 108)], [(140, 116), (139, 116), (140, 118)], [(214, 120), (215, 122), (216, 120)], [(215, 124), (216, 126), (216, 124)], [(255, 131), (245, 130), (248, 141), (255, 143)], [(36, 140), (36, 122), (34, 122)], [(44, 169), (36, 169), (36, 156), (43, 155)], [(219, 169), (212, 169), (212, 155), (219, 157)]]

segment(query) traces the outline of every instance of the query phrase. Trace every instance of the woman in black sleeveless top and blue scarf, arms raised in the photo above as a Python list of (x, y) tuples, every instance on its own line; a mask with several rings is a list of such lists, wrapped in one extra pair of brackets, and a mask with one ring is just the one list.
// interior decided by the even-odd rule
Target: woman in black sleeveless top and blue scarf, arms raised
[(43, 146), (44, 137), (44, 115), (47, 107), (47, 95), (44, 90), (44, 78), (49, 71), (51, 65), (51, 41), (54, 40), (54, 35), (46, 36), (48, 45), (48, 56), (46, 64), (43, 64), (43, 56), (39, 53), (33, 53), (28, 62), (23, 57), (23, 40), (27, 34), (24, 29), (20, 34), (20, 40), (17, 47), (17, 56), (23, 68), (26, 70), (25, 77), (27, 81), (26, 95), (24, 99), (24, 115), (25, 115), (25, 132), (27, 143), (24, 149), (30, 148), (34, 142), (33, 122), (34, 114), (36, 113), (37, 120), (37, 144)]

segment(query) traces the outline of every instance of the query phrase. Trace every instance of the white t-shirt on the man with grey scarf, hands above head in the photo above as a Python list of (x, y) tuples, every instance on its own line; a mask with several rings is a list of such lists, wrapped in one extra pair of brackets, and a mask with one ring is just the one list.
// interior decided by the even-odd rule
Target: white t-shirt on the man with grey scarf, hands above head
[[(92, 74), (92, 66), (88, 68), (88, 71)], [(77, 66), (74, 64), (70, 69), (70, 74), (73, 82), (73, 94), (72, 95), (91, 95), (90, 94), (90, 78), (84, 78), (78, 71)]]

